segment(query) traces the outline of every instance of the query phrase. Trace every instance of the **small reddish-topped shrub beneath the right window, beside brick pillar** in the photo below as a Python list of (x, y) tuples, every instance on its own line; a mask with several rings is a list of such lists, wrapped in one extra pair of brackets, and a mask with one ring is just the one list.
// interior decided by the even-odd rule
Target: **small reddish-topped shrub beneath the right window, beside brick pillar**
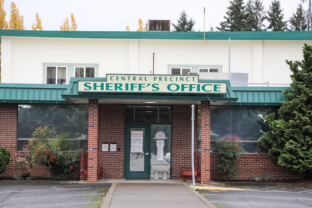
[(243, 152), (241, 142), (235, 141), (234, 136), (231, 140), (223, 140), (217, 143), (217, 169), (226, 175), (227, 181), (236, 175), (236, 163)]

